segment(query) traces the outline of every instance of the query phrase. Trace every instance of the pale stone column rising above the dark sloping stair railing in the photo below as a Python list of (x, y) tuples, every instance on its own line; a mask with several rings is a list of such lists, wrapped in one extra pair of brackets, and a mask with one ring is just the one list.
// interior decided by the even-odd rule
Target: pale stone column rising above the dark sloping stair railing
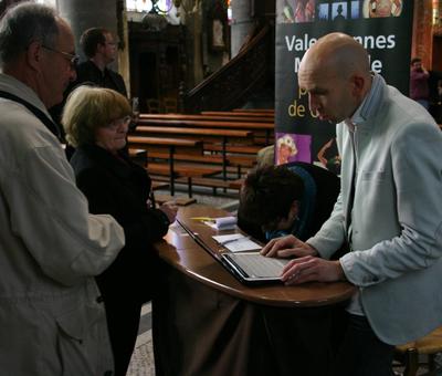
[(234, 58), (253, 30), (254, 10), (253, 0), (232, 0), (231, 6), (231, 58)]

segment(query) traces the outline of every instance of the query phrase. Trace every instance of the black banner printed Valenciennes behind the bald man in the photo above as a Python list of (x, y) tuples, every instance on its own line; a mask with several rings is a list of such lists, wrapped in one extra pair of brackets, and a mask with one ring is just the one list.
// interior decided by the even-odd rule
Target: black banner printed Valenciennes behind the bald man
[(408, 95), (413, 1), (277, 0), (275, 163), (307, 161), (338, 171), (335, 127), (315, 118), (297, 84), (305, 51), (340, 31), (364, 45), (371, 71)]

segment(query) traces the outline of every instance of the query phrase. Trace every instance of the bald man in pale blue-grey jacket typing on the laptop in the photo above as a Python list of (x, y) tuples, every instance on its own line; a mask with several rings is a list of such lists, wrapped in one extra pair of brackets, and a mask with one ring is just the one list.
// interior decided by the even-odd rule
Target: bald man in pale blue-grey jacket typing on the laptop
[[(319, 39), (298, 82), (312, 112), (337, 123), (341, 191), (316, 236), (273, 240), (262, 252), (297, 258), (286, 284), (355, 284), (335, 375), (391, 375), (393, 346), (442, 324), (442, 135), (421, 105), (370, 73), (349, 35)], [(348, 253), (328, 261), (345, 242)]]

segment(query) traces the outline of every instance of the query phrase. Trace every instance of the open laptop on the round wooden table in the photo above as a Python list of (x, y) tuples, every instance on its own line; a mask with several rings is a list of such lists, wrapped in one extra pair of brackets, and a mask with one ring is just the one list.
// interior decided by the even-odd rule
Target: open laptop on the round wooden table
[(186, 226), (186, 223), (178, 219), (177, 222), (199, 246), (219, 261), (241, 283), (248, 285), (281, 283), (282, 270), (290, 260), (266, 258), (259, 252), (232, 253), (229, 251), (218, 251), (207, 244), (204, 240)]

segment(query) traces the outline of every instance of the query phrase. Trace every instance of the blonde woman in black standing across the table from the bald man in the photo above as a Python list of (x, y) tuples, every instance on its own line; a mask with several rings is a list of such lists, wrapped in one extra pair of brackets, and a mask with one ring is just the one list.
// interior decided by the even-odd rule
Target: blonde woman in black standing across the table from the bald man
[(112, 215), (125, 230), (126, 246), (97, 284), (106, 307), (115, 375), (126, 375), (138, 333), (141, 304), (156, 290), (159, 260), (152, 242), (175, 221), (177, 208), (150, 207), (151, 181), (146, 170), (123, 152), (131, 108), (109, 88), (80, 86), (67, 98), (62, 123), (76, 184), (93, 213)]

